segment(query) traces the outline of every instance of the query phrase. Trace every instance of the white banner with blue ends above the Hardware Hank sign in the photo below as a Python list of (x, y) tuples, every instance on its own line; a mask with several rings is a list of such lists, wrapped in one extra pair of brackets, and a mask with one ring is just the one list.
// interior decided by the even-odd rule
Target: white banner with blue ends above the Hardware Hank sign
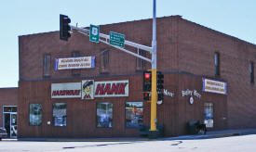
[(95, 56), (55, 58), (55, 70), (95, 68)]

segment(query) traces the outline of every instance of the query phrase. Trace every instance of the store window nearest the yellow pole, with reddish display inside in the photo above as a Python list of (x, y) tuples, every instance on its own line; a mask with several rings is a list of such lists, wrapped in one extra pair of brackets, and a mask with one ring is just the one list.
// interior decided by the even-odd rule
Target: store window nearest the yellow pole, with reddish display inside
[(143, 103), (126, 102), (126, 125), (128, 128), (137, 128), (143, 124)]

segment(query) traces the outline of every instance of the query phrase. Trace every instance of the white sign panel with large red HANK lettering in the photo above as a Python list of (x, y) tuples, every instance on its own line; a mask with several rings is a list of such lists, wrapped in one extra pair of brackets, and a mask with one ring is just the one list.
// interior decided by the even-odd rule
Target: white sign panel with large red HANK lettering
[(94, 97), (128, 96), (128, 80), (94, 83)]

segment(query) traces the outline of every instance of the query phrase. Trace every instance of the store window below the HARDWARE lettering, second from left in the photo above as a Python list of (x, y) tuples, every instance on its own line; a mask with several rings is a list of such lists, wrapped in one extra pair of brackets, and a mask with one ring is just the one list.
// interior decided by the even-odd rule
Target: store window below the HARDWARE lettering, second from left
[(67, 104), (52, 104), (52, 117), (54, 126), (67, 126)]

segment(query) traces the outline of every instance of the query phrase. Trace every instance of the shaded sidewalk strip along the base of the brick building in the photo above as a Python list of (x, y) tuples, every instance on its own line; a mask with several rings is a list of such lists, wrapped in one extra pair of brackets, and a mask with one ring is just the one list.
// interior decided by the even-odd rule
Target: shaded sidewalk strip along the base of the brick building
[(219, 138), (235, 135), (256, 134), (256, 129), (239, 129), (239, 130), (223, 130), (211, 131), (204, 135), (181, 135), (176, 137), (162, 137), (157, 139), (149, 139), (146, 137), (117, 137), (117, 138), (19, 138), (2, 139), (3, 141), (38, 141), (38, 142), (136, 142), (136, 141), (163, 141), (163, 140), (193, 140), (193, 139), (207, 139)]

